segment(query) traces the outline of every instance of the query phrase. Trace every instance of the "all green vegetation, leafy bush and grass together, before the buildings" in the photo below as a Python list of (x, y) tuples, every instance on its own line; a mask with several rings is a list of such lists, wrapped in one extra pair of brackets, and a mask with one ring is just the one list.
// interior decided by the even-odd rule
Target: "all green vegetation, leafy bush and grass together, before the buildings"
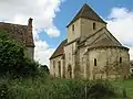
[(6, 32), (0, 32), (0, 99), (122, 99), (126, 95), (133, 98), (133, 80), (123, 85), (122, 80), (50, 77), (48, 67), (24, 57), (24, 46)]

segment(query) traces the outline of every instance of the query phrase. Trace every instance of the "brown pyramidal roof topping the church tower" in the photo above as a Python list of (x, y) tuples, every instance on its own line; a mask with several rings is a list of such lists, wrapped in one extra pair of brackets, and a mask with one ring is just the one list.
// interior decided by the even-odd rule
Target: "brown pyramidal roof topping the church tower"
[(79, 18), (85, 18), (99, 22), (106, 23), (103, 21), (95, 12), (93, 9), (91, 9), (86, 3), (81, 8), (81, 10), (78, 12), (78, 14), (74, 16), (74, 19), (66, 25), (66, 28), (72, 24), (75, 20)]

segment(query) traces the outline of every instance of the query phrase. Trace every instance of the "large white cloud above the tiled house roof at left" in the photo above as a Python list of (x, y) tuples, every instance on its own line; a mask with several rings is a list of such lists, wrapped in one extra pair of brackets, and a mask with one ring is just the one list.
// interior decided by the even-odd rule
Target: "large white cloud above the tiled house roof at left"
[(60, 31), (53, 24), (55, 12), (63, 0), (0, 0), (0, 20), (27, 24), (31, 16), (34, 28), (45, 31), (50, 36), (59, 36)]

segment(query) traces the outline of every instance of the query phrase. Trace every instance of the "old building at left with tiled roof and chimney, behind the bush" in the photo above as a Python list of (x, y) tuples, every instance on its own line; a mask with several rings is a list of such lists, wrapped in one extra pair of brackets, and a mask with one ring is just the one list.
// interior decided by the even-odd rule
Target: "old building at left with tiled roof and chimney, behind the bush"
[(32, 19), (28, 21), (28, 25), (0, 22), (0, 31), (9, 33), (9, 36), (25, 45), (25, 56), (33, 61), (34, 42), (32, 34)]

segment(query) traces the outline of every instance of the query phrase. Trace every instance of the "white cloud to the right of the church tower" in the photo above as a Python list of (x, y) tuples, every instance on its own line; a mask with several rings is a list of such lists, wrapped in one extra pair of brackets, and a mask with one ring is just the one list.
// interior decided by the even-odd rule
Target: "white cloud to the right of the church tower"
[(130, 47), (130, 56), (133, 59), (133, 11), (126, 8), (113, 8), (106, 22), (112, 34)]

